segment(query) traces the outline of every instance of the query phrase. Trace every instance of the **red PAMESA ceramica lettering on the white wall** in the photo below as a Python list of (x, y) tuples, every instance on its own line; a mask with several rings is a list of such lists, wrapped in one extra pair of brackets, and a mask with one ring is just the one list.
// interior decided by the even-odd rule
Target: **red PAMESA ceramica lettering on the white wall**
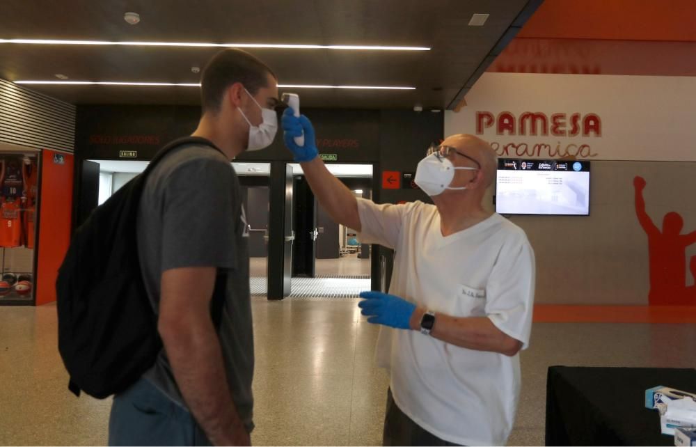
[[(596, 113), (552, 113), (548, 116), (542, 112), (525, 111), (516, 116), (509, 111), (497, 115), (490, 111), (477, 111), (476, 134), (485, 135), (487, 132), (495, 132), (499, 137), (549, 137), (539, 143), (491, 141), (491, 147), (500, 157), (591, 158), (597, 154), (592, 152), (589, 139), (602, 136), (602, 121)], [(574, 141), (563, 141), (568, 138)], [(578, 138), (583, 140), (578, 141)]]

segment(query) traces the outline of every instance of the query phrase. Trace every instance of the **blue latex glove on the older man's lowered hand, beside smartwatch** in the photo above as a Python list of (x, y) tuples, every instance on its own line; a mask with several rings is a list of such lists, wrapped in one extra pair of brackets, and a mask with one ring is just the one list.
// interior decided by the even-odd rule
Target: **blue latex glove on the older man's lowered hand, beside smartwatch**
[(383, 324), (396, 329), (411, 329), (411, 315), (416, 310), (416, 304), (409, 303), (403, 298), (388, 295), (382, 292), (361, 292), (364, 301), (358, 303), (363, 309), (363, 315), (367, 315), (368, 323)]

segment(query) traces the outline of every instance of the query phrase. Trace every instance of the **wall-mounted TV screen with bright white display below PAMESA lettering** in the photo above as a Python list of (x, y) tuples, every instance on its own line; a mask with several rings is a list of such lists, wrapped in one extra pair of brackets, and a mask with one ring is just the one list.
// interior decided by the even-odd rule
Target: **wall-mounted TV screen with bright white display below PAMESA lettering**
[(590, 162), (498, 159), (498, 214), (590, 214)]

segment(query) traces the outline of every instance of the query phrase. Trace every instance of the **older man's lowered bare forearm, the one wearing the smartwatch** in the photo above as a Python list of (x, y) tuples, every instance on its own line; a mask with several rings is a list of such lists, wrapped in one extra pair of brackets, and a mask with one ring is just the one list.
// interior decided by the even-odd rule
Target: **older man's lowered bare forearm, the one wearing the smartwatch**
[[(417, 307), (411, 315), (410, 326), (420, 331), (420, 320), (425, 308)], [(512, 356), (522, 347), (522, 343), (500, 331), (488, 317), (452, 317), (436, 314), (435, 326), (430, 336), (470, 350), (499, 352)]]

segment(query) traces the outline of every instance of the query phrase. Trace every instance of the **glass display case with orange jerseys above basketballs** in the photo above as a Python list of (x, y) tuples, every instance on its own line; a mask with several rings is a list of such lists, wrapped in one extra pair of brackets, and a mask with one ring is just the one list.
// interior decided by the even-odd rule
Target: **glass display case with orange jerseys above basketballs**
[(0, 151), (0, 304), (33, 303), (39, 151)]

